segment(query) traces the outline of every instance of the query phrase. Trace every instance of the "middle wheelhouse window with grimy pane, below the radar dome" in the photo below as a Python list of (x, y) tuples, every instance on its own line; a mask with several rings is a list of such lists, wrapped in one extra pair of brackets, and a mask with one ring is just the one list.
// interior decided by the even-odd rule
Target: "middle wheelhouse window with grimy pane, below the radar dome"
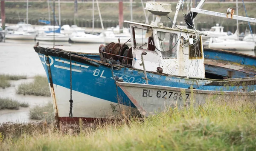
[(177, 34), (157, 31), (163, 59), (177, 58)]

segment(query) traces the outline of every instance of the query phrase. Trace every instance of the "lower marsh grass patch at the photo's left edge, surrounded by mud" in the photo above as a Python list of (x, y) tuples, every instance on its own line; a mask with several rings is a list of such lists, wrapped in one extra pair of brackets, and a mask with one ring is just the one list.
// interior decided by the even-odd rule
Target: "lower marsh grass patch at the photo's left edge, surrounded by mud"
[(0, 110), (3, 109), (13, 109), (13, 110), (18, 110), (19, 107), (29, 107), (28, 103), (20, 103), (17, 100), (12, 100), (10, 98), (0, 98)]

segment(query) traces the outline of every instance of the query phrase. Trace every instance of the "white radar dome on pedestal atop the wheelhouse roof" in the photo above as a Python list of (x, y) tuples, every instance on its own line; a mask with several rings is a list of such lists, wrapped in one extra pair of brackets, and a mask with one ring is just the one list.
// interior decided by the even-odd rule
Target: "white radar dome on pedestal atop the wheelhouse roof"
[(172, 12), (172, 4), (161, 3), (161, 2), (147, 2), (145, 10), (151, 12), (151, 14), (156, 15), (156, 20), (151, 22), (154, 26), (163, 26), (160, 23), (161, 17), (168, 15)]

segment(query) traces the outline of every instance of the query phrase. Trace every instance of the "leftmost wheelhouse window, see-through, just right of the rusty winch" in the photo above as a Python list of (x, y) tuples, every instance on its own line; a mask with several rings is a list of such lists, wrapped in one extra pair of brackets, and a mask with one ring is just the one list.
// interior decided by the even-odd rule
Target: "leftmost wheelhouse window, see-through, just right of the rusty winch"
[(148, 49), (148, 37), (146, 37), (146, 33), (146, 29), (133, 28), (135, 48)]

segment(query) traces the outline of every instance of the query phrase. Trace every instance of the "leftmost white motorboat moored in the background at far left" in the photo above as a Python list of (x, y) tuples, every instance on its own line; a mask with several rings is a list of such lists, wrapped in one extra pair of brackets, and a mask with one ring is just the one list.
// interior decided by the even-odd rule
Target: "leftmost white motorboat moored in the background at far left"
[(15, 39), (15, 40), (35, 40), (35, 34), (30, 34), (25, 31), (14, 31), (5, 35), (6, 39)]

